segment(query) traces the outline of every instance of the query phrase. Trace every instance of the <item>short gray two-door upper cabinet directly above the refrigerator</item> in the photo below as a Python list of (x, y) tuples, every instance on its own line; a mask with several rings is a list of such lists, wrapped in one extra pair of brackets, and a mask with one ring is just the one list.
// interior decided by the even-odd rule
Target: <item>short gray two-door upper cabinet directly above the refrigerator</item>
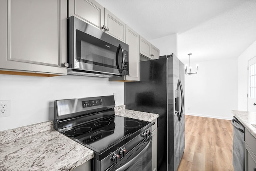
[(153, 46), (150, 42), (140, 36), (140, 54), (149, 59), (158, 59), (159, 49)]

